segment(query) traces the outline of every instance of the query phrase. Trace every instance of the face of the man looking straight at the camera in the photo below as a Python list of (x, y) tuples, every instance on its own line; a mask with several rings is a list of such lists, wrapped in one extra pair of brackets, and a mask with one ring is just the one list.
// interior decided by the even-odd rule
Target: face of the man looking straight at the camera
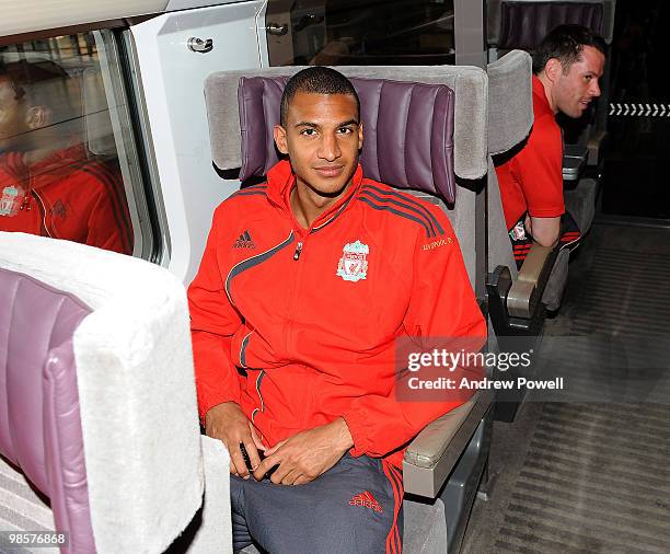
[(275, 141), (288, 154), (298, 183), (319, 196), (337, 197), (350, 183), (362, 148), (356, 100), (298, 92), (286, 119), (286, 128), (275, 127)]

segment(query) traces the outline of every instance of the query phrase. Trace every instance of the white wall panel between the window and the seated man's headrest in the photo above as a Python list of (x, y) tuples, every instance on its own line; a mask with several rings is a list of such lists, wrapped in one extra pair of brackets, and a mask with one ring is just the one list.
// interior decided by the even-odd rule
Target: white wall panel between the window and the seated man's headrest
[[(162, 263), (185, 282), (194, 277), (216, 206), (239, 187), (213, 170), (205, 78), (262, 65), (262, 0), (162, 14), (131, 27), (170, 252)], [(212, 41), (206, 54), (189, 38)]]

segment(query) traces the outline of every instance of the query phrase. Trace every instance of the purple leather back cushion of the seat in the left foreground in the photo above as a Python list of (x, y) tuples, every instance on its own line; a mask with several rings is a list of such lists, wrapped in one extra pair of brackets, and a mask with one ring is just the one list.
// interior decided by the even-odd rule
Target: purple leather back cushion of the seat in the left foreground
[(94, 549), (72, 346), (90, 313), (77, 298), (0, 268), (0, 453), (48, 496), (76, 551)]

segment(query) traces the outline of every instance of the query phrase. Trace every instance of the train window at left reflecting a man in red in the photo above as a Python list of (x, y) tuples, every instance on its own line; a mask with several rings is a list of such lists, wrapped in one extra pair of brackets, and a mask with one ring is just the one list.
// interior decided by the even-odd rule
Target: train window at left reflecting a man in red
[(149, 256), (111, 31), (0, 47), (0, 230)]

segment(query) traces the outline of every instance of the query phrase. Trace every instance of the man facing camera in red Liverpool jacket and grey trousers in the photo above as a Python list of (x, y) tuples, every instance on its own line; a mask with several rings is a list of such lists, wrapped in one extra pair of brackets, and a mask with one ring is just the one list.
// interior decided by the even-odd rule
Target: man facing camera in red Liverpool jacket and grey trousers
[(483, 341), (486, 324), (443, 212), (363, 177), (350, 82), (313, 67), (281, 105), (290, 161), (217, 208), (188, 290), (200, 416), (231, 454), (233, 545), (400, 552), (403, 448), (462, 401), (397, 401), (396, 342)]

